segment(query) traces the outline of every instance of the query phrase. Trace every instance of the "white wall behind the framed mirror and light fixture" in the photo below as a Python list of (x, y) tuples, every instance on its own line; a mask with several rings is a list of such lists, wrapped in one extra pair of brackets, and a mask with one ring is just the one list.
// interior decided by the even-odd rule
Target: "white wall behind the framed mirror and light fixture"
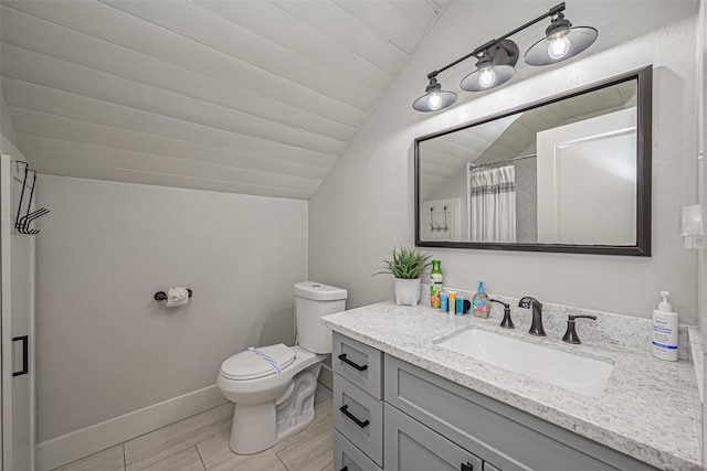
[[(519, 65), (518, 77), (503, 88), (429, 116), (412, 110), (430, 69), (468, 51), (469, 21), (478, 20), (476, 2), (452, 2), (398, 77), (366, 126), (309, 201), (309, 272), (349, 290), (349, 307), (389, 299), (392, 279), (371, 278), (378, 261), (399, 244), (413, 244), (413, 139), (462, 121), (573, 89), (648, 64), (654, 65), (653, 256), (651, 258), (431, 249), (442, 261), (445, 283), (475, 289), (487, 281), (489, 292), (532, 295), (541, 301), (579, 306), (647, 318), (658, 291), (672, 293), (680, 321), (696, 322), (696, 256), (682, 248), (679, 207), (696, 199), (695, 31), (696, 3), (653, 3), (656, 18), (642, 18), (647, 3), (612, 2), (631, 8), (631, 21), (662, 22), (644, 36), (621, 42), (619, 28), (600, 31), (599, 52), (566, 65), (532, 69)], [(538, 3), (504, 2), (505, 23), (523, 23)], [(589, 6), (589, 7), (588, 7)], [(589, 15), (590, 3), (577, 2)], [(651, 8), (653, 8), (651, 7)], [(689, 14), (667, 23), (676, 8)], [(613, 7), (612, 7), (613, 8)], [(593, 7), (597, 14), (601, 9)], [(653, 11), (655, 14), (655, 11)], [(569, 14), (569, 11), (568, 11)], [(626, 13), (627, 14), (627, 13)], [(516, 18), (520, 15), (520, 18)], [(629, 15), (629, 14), (627, 14)], [(572, 21), (576, 17), (572, 18)], [(612, 13), (612, 21), (621, 17)], [(587, 21), (587, 20), (584, 20)], [(483, 28), (479, 24), (479, 28)], [(496, 34), (505, 30), (498, 26)], [(614, 44), (619, 44), (615, 45)], [(469, 67), (471, 68), (471, 67)], [(536, 74), (536, 75), (534, 75)], [(440, 77), (443, 88), (455, 88)], [(525, 78), (525, 79), (523, 79)], [(464, 94), (462, 99), (471, 94)]]

